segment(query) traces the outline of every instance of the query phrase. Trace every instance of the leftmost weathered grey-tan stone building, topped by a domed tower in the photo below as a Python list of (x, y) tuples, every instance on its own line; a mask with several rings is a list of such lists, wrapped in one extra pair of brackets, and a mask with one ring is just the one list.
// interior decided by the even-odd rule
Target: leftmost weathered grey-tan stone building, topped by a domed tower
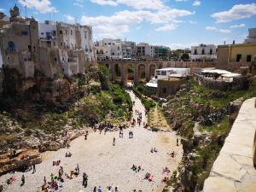
[(38, 64), (38, 22), (20, 17), (15, 6), (10, 9), (10, 23), (0, 32), (3, 66), (15, 68), (22, 78), (33, 78)]

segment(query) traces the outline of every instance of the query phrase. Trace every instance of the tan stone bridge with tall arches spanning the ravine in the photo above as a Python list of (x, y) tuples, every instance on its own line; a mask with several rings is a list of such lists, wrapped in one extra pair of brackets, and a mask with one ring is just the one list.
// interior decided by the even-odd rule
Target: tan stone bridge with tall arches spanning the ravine
[(163, 61), (98, 61), (100, 65), (108, 67), (113, 80), (121, 79), (121, 83), (128, 83), (129, 69), (133, 70), (134, 84), (144, 78), (148, 82), (154, 76), (154, 70), (164, 67)]

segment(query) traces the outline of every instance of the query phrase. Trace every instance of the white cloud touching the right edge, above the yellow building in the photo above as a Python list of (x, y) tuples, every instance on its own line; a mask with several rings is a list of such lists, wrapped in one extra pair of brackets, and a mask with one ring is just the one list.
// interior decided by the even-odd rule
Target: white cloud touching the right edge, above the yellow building
[(232, 9), (212, 14), (212, 18), (218, 23), (229, 22), (232, 20), (241, 20), (256, 15), (256, 4), (236, 4)]

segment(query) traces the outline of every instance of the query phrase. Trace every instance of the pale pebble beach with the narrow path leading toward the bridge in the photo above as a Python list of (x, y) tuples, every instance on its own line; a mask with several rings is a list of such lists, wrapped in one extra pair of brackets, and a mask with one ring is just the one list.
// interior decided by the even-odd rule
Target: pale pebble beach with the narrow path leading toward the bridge
[[(135, 96), (129, 92), (132, 100)], [(146, 122), (143, 104), (136, 99), (135, 109), (143, 112), (143, 121)], [(128, 132), (133, 131), (134, 138), (129, 139)], [(115, 146), (112, 145), (113, 137), (116, 138)], [(131, 192), (133, 189), (141, 189), (143, 192), (160, 192), (165, 184), (161, 179), (166, 175), (162, 173), (164, 167), (168, 167), (172, 172), (177, 169), (177, 165), (182, 158), (182, 146), (176, 146), (176, 136), (174, 132), (152, 132), (138, 125), (124, 131), (124, 138), (119, 138), (119, 132), (90, 132), (88, 140), (79, 137), (71, 143), (70, 148), (61, 148), (56, 152), (44, 153), (44, 160), (36, 166), (37, 172), (26, 172), (26, 183), (20, 187), (20, 177), (22, 172), (6, 174), (0, 177), (0, 184), (4, 185), (8, 192), (35, 192), (44, 183), (44, 176), (50, 180), (50, 173), (57, 174), (59, 167), (52, 166), (53, 160), (61, 160), (64, 172), (74, 170), (76, 165), (80, 166), (79, 177), (69, 180), (65, 179), (63, 188), (60, 191), (79, 192), (80, 190), (92, 191), (94, 186), (102, 186), (103, 191), (108, 191), (107, 186), (118, 186), (119, 191)], [(151, 148), (157, 148), (157, 153), (150, 153)], [(177, 152), (177, 156), (172, 158), (169, 154), (172, 150)], [(72, 157), (66, 158), (66, 152), (73, 153)], [(142, 166), (143, 171), (133, 172), (132, 165)], [(82, 186), (82, 172), (89, 176), (88, 186)], [(144, 180), (146, 172), (153, 174), (153, 181)], [(15, 176), (14, 183), (7, 186), (7, 178)]]

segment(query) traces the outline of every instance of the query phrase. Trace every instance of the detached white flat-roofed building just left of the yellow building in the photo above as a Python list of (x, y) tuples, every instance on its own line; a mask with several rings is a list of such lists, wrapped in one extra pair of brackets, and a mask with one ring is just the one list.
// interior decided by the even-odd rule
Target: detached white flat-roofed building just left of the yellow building
[(200, 44), (191, 47), (192, 61), (216, 61), (217, 48), (214, 44)]

